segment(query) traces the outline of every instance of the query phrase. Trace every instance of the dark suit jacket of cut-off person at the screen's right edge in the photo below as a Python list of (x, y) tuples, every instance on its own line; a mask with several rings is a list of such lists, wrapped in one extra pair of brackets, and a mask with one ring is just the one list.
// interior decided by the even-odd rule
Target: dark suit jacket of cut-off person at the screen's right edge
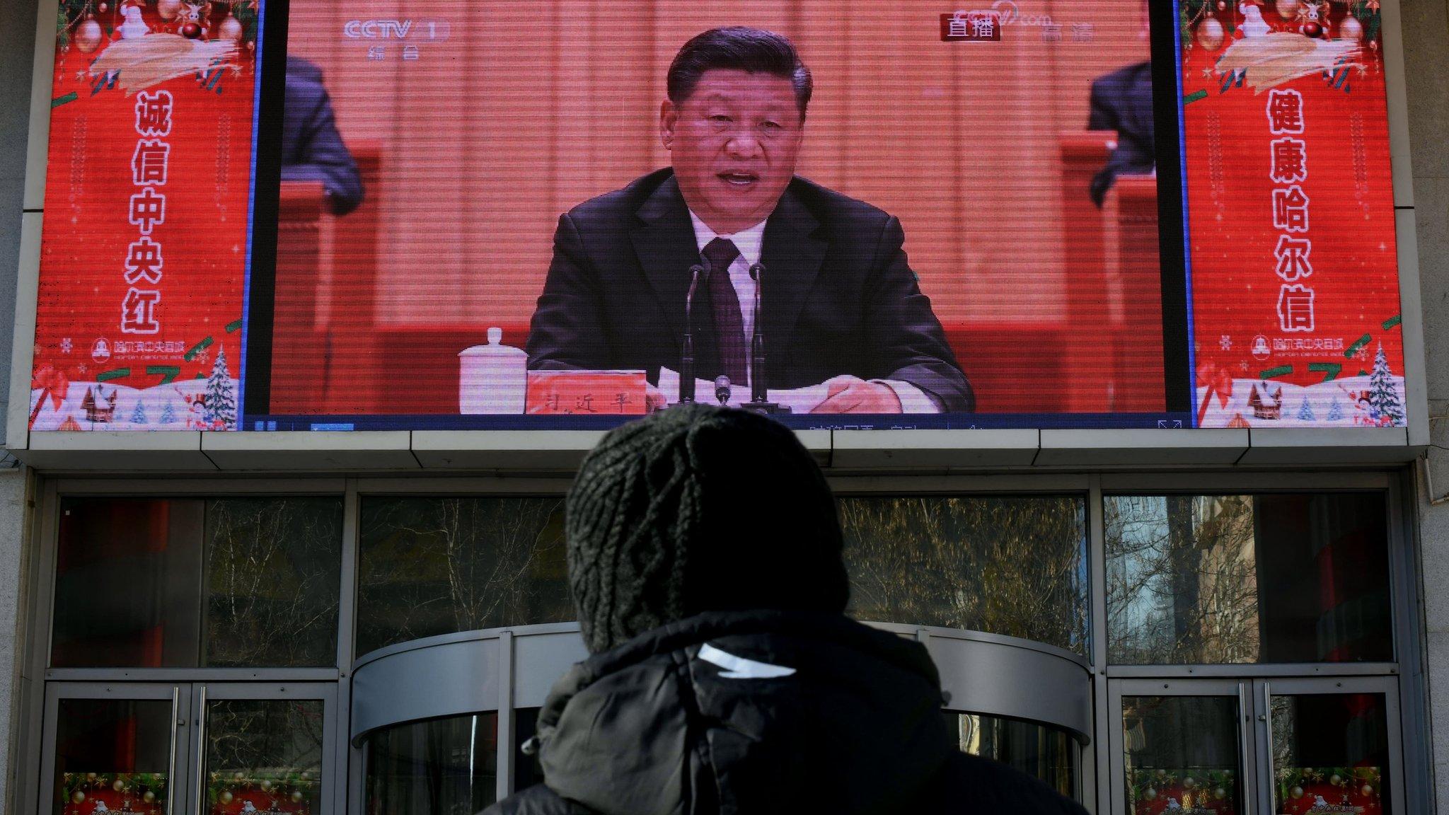
[(1127, 65), (1093, 80), (1087, 129), (1117, 131), (1117, 149), (1091, 180), (1091, 200), (1101, 206), (1117, 175), (1145, 175), (1158, 164), (1151, 62)]

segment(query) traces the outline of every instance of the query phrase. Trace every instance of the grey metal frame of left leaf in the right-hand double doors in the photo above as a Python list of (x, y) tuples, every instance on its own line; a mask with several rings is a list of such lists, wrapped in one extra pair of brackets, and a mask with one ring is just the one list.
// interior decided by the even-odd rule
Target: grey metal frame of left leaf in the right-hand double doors
[[(1107, 684), (1107, 766), (1110, 812), (1127, 812), (1122, 731), (1123, 696), (1217, 696), (1237, 703), (1237, 767), (1243, 814), (1255, 815), (1258, 789), (1256, 744), (1252, 731), (1252, 680), (1240, 679), (1116, 679)], [(1100, 783), (1100, 782), (1098, 782)]]

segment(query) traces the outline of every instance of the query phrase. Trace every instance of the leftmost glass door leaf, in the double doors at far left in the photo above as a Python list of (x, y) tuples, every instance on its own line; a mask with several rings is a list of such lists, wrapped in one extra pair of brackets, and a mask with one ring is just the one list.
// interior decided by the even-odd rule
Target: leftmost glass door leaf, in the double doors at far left
[(46, 686), (41, 815), (181, 812), (190, 693), (190, 684)]

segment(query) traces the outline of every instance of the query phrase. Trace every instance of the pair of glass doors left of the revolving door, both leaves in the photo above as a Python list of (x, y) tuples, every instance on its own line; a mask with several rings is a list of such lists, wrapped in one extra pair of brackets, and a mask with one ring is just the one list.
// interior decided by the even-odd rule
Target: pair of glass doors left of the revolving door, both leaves
[(336, 686), (51, 683), (39, 815), (327, 815)]

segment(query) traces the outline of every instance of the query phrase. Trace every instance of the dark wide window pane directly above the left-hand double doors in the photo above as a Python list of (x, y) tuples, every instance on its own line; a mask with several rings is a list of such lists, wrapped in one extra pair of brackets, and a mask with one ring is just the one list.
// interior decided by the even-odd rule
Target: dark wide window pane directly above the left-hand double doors
[(51, 664), (332, 666), (341, 582), (338, 497), (65, 499)]

